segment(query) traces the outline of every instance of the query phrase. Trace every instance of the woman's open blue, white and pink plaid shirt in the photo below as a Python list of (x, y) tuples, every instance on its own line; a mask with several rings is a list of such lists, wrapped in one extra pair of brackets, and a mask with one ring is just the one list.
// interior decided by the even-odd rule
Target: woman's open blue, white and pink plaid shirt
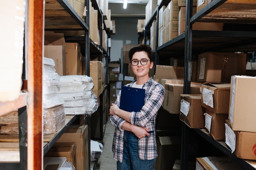
[[(126, 84), (126, 86), (132, 86), (135, 81), (136, 80)], [(130, 113), (130, 123), (136, 126), (146, 127), (150, 131), (155, 131), (155, 119), (157, 117), (159, 108), (164, 102), (165, 89), (161, 84), (154, 81), (151, 77), (147, 82), (145, 82), (142, 88), (145, 89), (145, 104), (139, 112)], [(115, 102), (117, 106), (120, 106), (120, 95), (121, 91), (117, 95), (117, 100)], [(123, 161), (124, 130), (121, 129), (121, 127), (125, 121), (126, 120), (117, 115), (110, 116), (111, 124), (116, 127), (112, 151), (114, 153), (114, 160), (119, 162)], [(151, 133), (149, 137), (146, 136), (138, 140), (138, 154), (139, 159), (142, 160), (151, 160), (157, 157), (155, 132)]]

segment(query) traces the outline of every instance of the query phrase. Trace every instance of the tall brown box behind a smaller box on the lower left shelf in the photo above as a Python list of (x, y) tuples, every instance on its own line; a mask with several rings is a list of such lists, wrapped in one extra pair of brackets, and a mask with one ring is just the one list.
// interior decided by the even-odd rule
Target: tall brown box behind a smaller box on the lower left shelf
[(89, 170), (88, 125), (70, 126), (57, 142), (76, 143), (76, 170)]

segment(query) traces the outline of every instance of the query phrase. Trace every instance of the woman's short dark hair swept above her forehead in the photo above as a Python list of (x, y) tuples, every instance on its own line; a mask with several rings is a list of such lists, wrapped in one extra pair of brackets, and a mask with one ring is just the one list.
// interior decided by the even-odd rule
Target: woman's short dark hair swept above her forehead
[(140, 52), (140, 51), (145, 51), (148, 55), (150, 62), (154, 62), (155, 53), (152, 51), (150, 46), (147, 46), (145, 44), (140, 44), (140, 45), (135, 46), (132, 49), (130, 49), (130, 51), (129, 51), (130, 61), (132, 60), (132, 56), (134, 55), (134, 53)]

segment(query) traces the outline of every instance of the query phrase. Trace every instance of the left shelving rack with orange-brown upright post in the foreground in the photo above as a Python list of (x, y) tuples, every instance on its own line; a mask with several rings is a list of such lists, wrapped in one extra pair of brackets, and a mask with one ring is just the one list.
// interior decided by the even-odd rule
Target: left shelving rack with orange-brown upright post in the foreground
[[(89, 7), (86, 1), (85, 6)], [(99, 30), (102, 32), (103, 16), (95, 0), (94, 8), (98, 9)], [(65, 130), (78, 118), (78, 115), (66, 115), (66, 124), (58, 132), (43, 135), (42, 122), (42, 73), (43, 73), (43, 39), (44, 30), (48, 31), (84, 31), (83, 37), (68, 37), (67, 41), (76, 41), (83, 46), (85, 54), (85, 75), (90, 76), (90, 52), (103, 54), (101, 45), (96, 45), (89, 38), (89, 10), (85, 21), (74, 11), (67, 0), (26, 0), (25, 18), (25, 67), (23, 69), (23, 87), (18, 99), (11, 102), (0, 102), (0, 115), (18, 109), (19, 136), (13, 137), (19, 142), (20, 163), (0, 163), (1, 170), (38, 170), (43, 168), (43, 155), (54, 145)], [(90, 44), (90, 45), (87, 45)], [(110, 53), (110, 52), (109, 52)], [(106, 55), (109, 57), (109, 55)], [(102, 57), (99, 58), (102, 60)], [(41, 123), (38, 123), (41, 122)], [(89, 128), (90, 117), (86, 120)], [(2, 137), (2, 135), (1, 135)], [(0, 137), (0, 141), (1, 141)], [(2, 138), (3, 139), (3, 138)], [(90, 159), (90, 143), (89, 155)], [(90, 160), (89, 167), (90, 168)]]

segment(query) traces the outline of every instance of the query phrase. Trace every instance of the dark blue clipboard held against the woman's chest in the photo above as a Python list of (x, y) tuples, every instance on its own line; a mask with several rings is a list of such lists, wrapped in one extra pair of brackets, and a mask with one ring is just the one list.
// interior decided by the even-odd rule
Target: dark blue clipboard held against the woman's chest
[(144, 99), (145, 89), (122, 86), (119, 108), (128, 112), (139, 112), (144, 106)]

